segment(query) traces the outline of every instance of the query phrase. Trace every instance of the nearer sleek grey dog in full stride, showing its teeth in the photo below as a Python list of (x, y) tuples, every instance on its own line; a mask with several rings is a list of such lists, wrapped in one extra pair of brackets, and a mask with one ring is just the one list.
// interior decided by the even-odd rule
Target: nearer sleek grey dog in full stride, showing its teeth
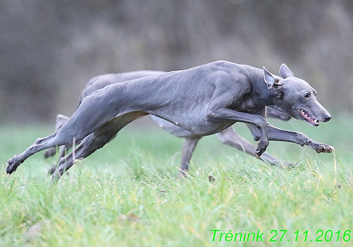
[[(84, 98), (71, 118), (54, 134), (38, 138), (7, 163), (11, 174), (29, 156), (41, 150), (81, 143), (60, 160), (52, 180), (70, 167), (65, 162), (83, 159), (103, 147), (131, 121), (152, 114), (195, 135), (218, 133), (235, 122), (245, 122), (260, 157), (269, 141), (307, 145), (317, 153), (330, 153), (332, 146), (306, 135), (277, 129), (266, 120), (266, 106), (301, 119), (312, 126), (331, 119), (317, 101), (316, 91), (281, 65), (281, 77), (264, 67), (257, 69), (228, 61), (215, 61), (195, 68), (108, 85)], [(74, 157), (75, 156), (75, 157)], [(73, 162), (68, 162), (73, 164)]]

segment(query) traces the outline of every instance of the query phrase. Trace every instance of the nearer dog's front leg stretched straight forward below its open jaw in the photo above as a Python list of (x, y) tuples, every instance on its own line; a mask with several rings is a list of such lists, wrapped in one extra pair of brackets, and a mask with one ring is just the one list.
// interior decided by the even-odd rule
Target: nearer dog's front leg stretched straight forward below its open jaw
[(295, 131), (285, 131), (275, 128), (271, 125), (267, 126), (268, 139), (270, 141), (292, 142), (301, 145), (307, 145), (314, 149), (317, 153), (331, 153), (334, 148), (330, 145), (315, 142), (306, 135)]

